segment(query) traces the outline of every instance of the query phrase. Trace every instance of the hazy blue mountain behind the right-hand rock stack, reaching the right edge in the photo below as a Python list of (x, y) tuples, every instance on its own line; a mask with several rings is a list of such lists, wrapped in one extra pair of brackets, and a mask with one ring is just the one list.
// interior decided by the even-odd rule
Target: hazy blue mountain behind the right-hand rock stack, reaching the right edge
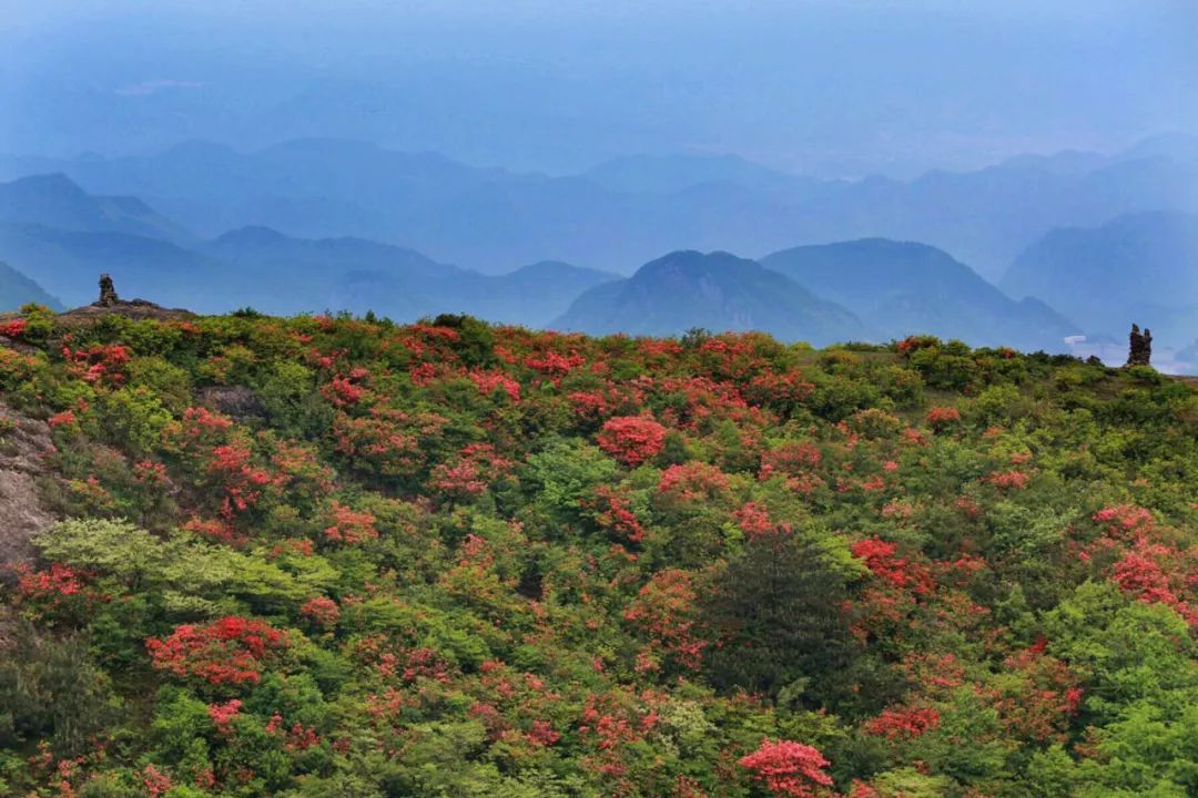
[(1043, 299), (1087, 331), (1121, 337), (1137, 322), (1161, 343), (1182, 346), (1198, 329), (1198, 217), (1143, 213), (1054, 230), (999, 285), (1012, 297)]

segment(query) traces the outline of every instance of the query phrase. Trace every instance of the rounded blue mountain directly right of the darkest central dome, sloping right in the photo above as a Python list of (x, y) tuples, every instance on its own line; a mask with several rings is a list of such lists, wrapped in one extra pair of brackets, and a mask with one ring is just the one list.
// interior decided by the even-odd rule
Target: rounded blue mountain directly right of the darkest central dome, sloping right
[(853, 311), (885, 337), (955, 337), (973, 346), (1064, 349), (1076, 325), (1035, 300), (1015, 301), (948, 252), (884, 238), (795, 246), (761, 260)]

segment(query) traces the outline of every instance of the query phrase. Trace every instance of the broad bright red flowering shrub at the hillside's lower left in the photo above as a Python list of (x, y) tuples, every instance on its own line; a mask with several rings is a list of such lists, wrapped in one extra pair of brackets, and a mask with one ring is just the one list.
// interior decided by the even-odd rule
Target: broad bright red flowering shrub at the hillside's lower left
[(199, 627), (184, 623), (168, 638), (146, 640), (155, 668), (210, 684), (256, 684), (264, 660), (285, 646), (283, 632), (238, 615)]

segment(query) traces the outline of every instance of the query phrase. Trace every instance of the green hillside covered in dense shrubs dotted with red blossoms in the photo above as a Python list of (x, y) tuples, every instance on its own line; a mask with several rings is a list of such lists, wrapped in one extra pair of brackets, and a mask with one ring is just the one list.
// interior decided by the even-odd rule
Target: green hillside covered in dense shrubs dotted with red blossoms
[(1185, 383), (468, 317), (4, 333), (63, 520), (4, 587), (0, 793), (1198, 792)]

